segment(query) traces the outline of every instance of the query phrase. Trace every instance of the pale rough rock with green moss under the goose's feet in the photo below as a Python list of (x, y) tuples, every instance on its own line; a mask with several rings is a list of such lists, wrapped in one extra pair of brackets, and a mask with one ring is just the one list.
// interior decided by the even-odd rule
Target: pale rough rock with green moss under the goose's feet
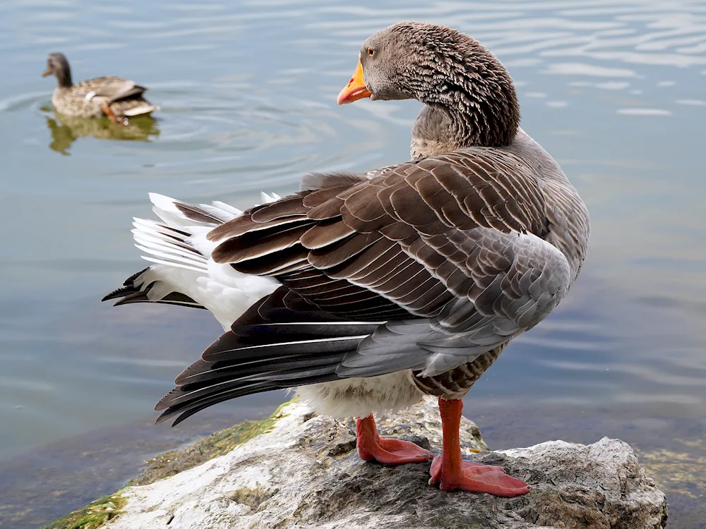
[[(150, 485), (127, 487), (110, 529), (464, 528), (652, 529), (666, 523), (666, 499), (628, 444), (562, 441), (473, 454), (502, 465), (532, 491), (504, 499), (446, 493), (427, 484), (429, 463), (384, 467), (357, 458), (351, 421), (280, 409), (272, 430), (224, 456)], [(432, 451), (441, 446), (433, 399), (378, 421)], [(462, 446), (484, 450), (478, 427), (461, 426)]]

